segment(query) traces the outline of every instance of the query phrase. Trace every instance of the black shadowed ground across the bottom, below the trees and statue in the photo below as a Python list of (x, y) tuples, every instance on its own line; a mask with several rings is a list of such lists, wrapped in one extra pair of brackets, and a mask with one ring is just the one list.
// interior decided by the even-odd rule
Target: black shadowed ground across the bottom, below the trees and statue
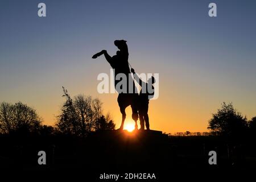
[[(104, 172), (155, 173), (155, 181), (166, 181), (178, 174), (191, 178), (188, 173), (200, 176), (243, 172), (256, 169), (254, 141), (234, 142), (216, 136), (168, 137), (159, 131), (99, 131), (85, 139), (2, 135), (0, 171), (71, 178), (82, 175), (84, 181), (102, 181), (99, 176)], [(47, 164), (40, 166), (41, 150), (46, 151)], [(212, 150), (217, 152), (217, 165), (208, 163), (208, 152)]]

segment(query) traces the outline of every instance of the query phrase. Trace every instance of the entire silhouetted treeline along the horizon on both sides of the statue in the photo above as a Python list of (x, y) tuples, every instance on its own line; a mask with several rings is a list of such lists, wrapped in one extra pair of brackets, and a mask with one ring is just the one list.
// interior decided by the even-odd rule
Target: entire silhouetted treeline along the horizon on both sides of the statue
[[(91, 96), (71, 97), (68, 90), (63, 87), (64, 104), (60, 114), (56, 117), (54, 126), (43, 125), (43, 119), (36, 110), (22, 102), (10, 104), (0, 103), (0, 134), (64, 134), (85, 138), (88, 134), (99, 130), (114, 130), (115, 124), (110, 113), (102, 114), (102, 102)], [(232, 103), (223, 102), (221, 108), (212, 114), (208, 121), (209, 132), (184, 133), (177, 132), (169, 135), (216, 135), (229, 139), (255, 137), (256, 117), (250, 120), (243, 116)]]

